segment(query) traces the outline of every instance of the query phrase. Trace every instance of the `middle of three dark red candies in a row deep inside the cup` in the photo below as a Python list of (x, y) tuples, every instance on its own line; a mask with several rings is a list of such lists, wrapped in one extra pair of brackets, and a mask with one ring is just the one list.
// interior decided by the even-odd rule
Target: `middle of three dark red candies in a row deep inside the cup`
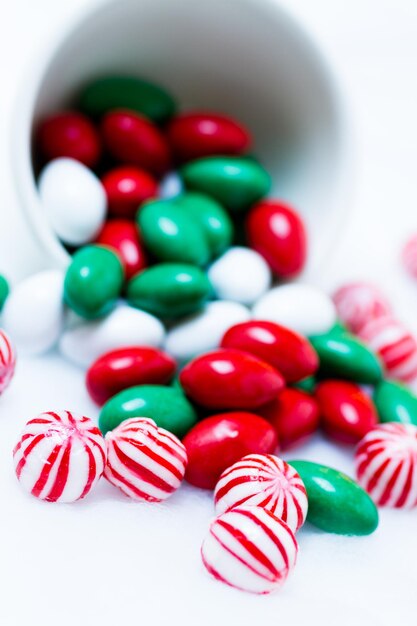
[(104, 145), (121, 163), (136, 165), (162, 176), (170, 163), (168, 144), (160, 130), (132, 111), (107, 113), (101, 123)]

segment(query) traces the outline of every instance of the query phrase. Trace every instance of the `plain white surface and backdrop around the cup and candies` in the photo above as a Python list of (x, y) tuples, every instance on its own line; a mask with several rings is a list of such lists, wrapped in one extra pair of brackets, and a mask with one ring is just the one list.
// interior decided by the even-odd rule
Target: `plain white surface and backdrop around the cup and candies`
[[(42, 267), (19, 214), (9, 160), (16, 88), (54, 27), (88, 0), (1, 0), (0, 269), (16, 279)], [(417, 332), (417, 283), (399, 262), (417, 231), (417, 3), (288, 0), (331, 59), (352, 113), (356, 180), (342, 244), (317, 282), (379, 283)], [(0, 624), (415, 625), (417, 512), (382, 511), (377, 533), (343, 538), (305, 529), (293, 577), (278, 594), (252, 597), (211, 581), (199, 545), (210, 495), (181, 489), (161, 506), (128, 502), (102, 483), (74, 506), (20, 491), (11, 450), (41, 410), (95, 417), (82, 373), (57, 356), (21, 360), (0, 399)], [(321, 441), (297, 456), (352, 471), (351, 456)]]

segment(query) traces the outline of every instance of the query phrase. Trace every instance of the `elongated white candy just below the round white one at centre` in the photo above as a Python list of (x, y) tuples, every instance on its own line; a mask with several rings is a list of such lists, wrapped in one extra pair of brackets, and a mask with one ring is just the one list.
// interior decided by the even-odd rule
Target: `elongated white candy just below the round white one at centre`
[(226, 330), (249, 318), (249, 310), (242, 304), (210, 302), (202, 311), (174, 326), (166, 336), (164, 348), (175, 359), (187, 361), (216, 348)]

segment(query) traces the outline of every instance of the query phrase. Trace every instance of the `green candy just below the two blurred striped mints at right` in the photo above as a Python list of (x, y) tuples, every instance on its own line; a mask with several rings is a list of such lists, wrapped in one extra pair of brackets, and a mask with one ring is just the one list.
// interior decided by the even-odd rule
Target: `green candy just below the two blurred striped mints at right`
[(320, 359), (320, 376), (347, 378), (375, 384), (382, 377), (379, 358), (348, 333), (332, 332), (310, 337)]

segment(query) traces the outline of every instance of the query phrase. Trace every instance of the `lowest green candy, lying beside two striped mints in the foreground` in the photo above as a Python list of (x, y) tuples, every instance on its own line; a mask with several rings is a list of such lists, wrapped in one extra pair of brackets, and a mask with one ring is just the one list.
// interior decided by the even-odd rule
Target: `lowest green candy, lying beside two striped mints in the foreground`
[(308, 497), (307, 520), (328, 533), (369, 535), (378, 511), (368, 494), (349, 476), (310, 461), (289, 461), (300, 474)]

